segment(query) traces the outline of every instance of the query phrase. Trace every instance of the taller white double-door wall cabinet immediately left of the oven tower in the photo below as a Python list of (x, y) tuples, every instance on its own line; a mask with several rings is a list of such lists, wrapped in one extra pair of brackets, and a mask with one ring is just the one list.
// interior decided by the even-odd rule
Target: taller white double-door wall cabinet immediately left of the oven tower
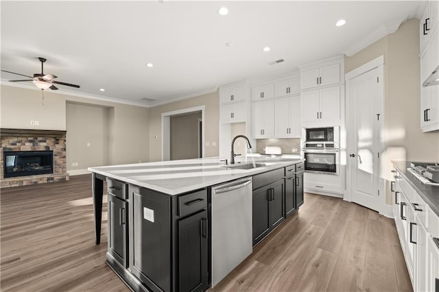
[(300, 138), (300, 96), (274, 101), (274, 136)]

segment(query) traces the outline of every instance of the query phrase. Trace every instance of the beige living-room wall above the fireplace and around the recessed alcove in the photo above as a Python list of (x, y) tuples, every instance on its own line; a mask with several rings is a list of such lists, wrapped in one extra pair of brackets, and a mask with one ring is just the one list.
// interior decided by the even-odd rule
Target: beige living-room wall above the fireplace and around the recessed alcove
[[(101, 106), (107, 108), (108, 116), (108, 158), (109, 165), (145, 162), (149, 158), (149, 108), (127, 106), (107, 101), (98, 101), (71, 95), (62, 95), (47, 91), (44, 106), (41, 104), (41, 93), (38, 90), (1, 86), (1, 127), (12, 129), (67, 130), (66, 103), (83, 106)], [(73, 112), (70, 112), (73, 114)], [(71, 121), (82, 119), (76, 112)], [(39, 121), (38, 126), (31, 126), (29, 121)], [(80, 139), (73, 137), (72, 139)], [(103, 138), (103, 137), (102, 137)], [(69, 141), (67, 140), (67, 145)], [(67, 146), (69, 147), (69, 146)], [(68, 150), (67, 150), (68, 151)], [(69, 154), (68, 154), (69, 155)], [(84, 153), (80, 159), (86, 157)], [(69, 166), (68, 166), (69, 167)], [(70, 163), (71, 167), (71, 163)], [(76, 169), (82, 169), (76, 167)]]

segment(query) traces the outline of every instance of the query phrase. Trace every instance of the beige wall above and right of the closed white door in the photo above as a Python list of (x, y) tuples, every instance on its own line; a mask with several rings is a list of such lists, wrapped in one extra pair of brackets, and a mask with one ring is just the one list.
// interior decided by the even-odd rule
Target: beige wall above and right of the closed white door
[[(410, 19), (389, 34), (344, 59), (347, 73), (384, 56), (384, 110), (387, 149), (383, 176), (390, 176), (390, 160), (439, 161), (439, 131), (420, 130), (419, 21)], [(391, 202), (388, 187), (388, 204)]]

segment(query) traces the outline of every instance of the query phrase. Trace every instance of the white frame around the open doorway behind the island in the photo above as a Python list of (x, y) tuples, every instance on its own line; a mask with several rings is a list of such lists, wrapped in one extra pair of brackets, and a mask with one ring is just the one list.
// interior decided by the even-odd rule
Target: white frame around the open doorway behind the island
[(174, 116), (176, 114), (189, 114), (191, 112), (200, 112), (201, 111), (201, 121), (202, 121), (202, 157), (204, 158), (204, 132), (205, 127), (203, 121), (204, 121), (204, 106), (195, 106), (193, 108), (183, 108), (181, 110), (173, 110), (171, 112), (162, 112), (162, 161), (168, 161), (171, 160), (171, 116)]

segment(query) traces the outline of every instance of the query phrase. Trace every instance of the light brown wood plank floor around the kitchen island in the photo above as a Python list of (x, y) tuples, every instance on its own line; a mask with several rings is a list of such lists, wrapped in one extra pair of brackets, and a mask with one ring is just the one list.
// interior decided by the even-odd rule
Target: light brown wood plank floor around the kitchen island
[[(91, 175), (2, 189), (1, 291), (130, 291), (94, 243)], [(394, 221), (342, 199), (305, 194), (210, 291), (411, 291)]]

